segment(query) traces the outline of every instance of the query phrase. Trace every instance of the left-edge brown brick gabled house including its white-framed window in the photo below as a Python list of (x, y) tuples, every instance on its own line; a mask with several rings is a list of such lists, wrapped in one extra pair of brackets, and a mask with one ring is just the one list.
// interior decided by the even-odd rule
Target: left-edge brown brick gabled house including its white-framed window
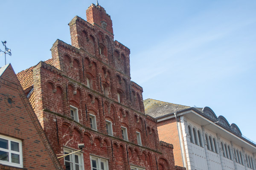
[(0, 68), (0, 170), (61, 170), (12, 65)]

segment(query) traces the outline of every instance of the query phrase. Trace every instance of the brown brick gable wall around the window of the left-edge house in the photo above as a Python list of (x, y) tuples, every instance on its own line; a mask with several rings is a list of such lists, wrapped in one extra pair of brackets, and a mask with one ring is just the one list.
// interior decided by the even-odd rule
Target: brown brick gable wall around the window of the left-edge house
[[(61, 169), (11, 65), (0, 77), (0, 115), (0, 134), (22, 141), (24, 168)], [(15, 170), (5, 165), (0, 165), (0, 169)]]

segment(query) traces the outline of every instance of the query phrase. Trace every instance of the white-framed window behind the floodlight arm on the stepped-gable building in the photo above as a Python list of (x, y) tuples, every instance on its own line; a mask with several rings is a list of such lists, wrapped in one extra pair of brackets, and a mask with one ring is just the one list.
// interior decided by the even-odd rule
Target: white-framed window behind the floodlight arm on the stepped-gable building
[[(64, 148), (64, 154), (75, 152), (76, 150), (71, 150)], [(84, 170), (84, 161), (82, 153), (73, 153), (65, 157), (65, 167), (66, 170)]]

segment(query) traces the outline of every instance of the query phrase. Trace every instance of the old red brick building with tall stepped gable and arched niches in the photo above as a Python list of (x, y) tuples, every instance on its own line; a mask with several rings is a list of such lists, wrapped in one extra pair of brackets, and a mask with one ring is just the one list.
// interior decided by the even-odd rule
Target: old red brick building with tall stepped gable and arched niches
[(173, 146), (160, 142), (145, 115), (143, 89), (130, 77), (129, 48), (114, 41), (111, 17), (92, 4), (87, 21), (69, 23), (72, 45), (53, 44), (52, 59), (17, 74), (66, 170), (175, 170)]

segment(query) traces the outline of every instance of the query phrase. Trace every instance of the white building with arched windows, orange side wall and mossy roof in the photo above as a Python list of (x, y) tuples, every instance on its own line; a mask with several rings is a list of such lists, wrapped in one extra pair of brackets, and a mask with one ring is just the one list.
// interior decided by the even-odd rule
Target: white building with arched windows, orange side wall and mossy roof
[(256, 169), (256, 143), (211, 108), (153, 99), (144, 100), (144, 106), (157, 119), (159, 139), (174, 145), (175, 164), (187, 170)]

